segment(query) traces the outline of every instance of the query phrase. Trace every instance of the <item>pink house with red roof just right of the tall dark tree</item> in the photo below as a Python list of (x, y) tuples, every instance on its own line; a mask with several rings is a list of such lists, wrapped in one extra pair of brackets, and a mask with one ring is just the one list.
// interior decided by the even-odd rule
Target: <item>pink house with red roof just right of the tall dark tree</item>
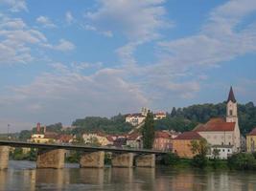
[(154, 134), (152, 148), (160, 151), (171, 151), (172, 139), (172, 135), (168, 131), (157, 131)]

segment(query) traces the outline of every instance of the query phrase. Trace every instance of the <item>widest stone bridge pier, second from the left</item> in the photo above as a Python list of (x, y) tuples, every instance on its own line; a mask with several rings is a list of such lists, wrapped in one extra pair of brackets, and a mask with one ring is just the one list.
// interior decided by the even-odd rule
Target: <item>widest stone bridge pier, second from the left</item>
[(36, 168), (63, 168), (64, 149), (38, 149)]

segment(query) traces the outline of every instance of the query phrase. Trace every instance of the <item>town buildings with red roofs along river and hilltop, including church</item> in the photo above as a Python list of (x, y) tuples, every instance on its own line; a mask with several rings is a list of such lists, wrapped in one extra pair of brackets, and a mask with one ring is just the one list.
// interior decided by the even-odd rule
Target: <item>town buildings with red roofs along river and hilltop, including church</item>
[[(226, 111), (225, 117), (211, 117), (205, 123), (197, 123), (190, 131), (176, 131), (176, 129), (155, 130), (152, 142), (152, 150), (168, 151), (175, 153), (180, 158), (192, 159), (197, 153), (191, 149), (192, 141), (204, 138), (209, 150), (207, 157), (227, 159), (239, 152), (255, 152), (256, 149), (256, 128), (252, 128), (245, 136), (241, 134), (238, 101), (235, 98), (231, 87), (228, 98), (224, 102)], [(95, 129), (94, 131), (82, 132), (76, 126), (65, 127), (56, 124), (53, 127), (46, 127), (39, 122), (33, 131), (23, 131), (24, 138), (28, 142), (35, 143), (59, 143), (59, 144), (85, 144), (92, 146), (105, 146), (113, 148), (144, 148), (142, 129), (148, 113), (148, 108), (142, 108), (139, 113), (122, 116), (124, 124), (128, 125), (123, 133), (105, 133)], [(177, 112), (177, 111), (173, 111)], [(153, 114), (154, 123), (166, 119), (166, 112), (155, 112)], [(172, 115), (172, 114), (171, 114)], [(174, 114), (173, 114), (174, 115)], [(116, 119), (118, 120), (118, 118)], [(106, 122), (107, 123), (107, 122)], [(121, 123), (123, 124), (123, 123)], [(59, 125), (59, 126), (58, 126)], [(109, 125), (107, 123), (107, 125)], [(256, 124), (254, 124), (256, 126)], [(58, 131), (56, 131), (58, 130)], [(74, 131), (77, 133), (75, 134)], [(22, 138), (24, 140), (24, 138)], [(28, 150), (24, 150), (28, 152)]]

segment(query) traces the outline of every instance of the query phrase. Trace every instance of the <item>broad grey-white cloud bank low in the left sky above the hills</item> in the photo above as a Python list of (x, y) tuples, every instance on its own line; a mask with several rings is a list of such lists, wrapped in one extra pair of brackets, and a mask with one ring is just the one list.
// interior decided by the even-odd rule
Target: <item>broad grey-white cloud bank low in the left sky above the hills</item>
[(5, 110), (0, 110), (1, 117), (70, 123), (77, 117), (112, 116), (148, 104), (140, 89), (123, 79), (120, 70), (82, 75), (66, 70), (61, 63), (54, 67), (57, 71), (41, 74), (29, 85), (9, 88), (8, 96), (2, 94), (0, 108)]

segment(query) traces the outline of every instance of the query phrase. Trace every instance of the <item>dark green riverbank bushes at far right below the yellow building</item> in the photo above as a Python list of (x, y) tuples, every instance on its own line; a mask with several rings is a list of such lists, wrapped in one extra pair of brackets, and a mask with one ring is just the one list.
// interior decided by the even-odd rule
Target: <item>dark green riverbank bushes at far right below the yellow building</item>
[(251, 153), (239, 153), (227, 159), (230, 169), (256, 170), (256, 159)]

